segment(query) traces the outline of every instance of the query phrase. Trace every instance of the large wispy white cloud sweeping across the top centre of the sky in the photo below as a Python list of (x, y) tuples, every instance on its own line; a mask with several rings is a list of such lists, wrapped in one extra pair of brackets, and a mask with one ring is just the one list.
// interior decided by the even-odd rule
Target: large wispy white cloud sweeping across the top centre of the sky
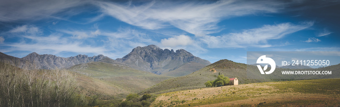
[(167, 2), (152, 1), (134, 5), (113, 2), (97, 2), (102, 12), (128, 24), (144, 29), (161, 29), (170, 25), (192, 34), (209, 34), (219, 31), (217, 23), (229, 18), (256, 13), (275, 13), (281, 9), (276, 1), (237, 1), (217, 2)]

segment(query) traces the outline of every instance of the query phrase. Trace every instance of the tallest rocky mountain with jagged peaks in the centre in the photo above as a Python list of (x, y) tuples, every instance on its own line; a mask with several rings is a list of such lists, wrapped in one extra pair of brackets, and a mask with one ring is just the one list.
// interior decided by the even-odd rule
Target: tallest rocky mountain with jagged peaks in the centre
[[(203, 65), (210, 64), (209, 61), (193, 56), (184, 49), (161, 49), (155, 45), (140, 47), (137, 46), (129, 54), (116, 61), (129, 64), (137, 70), (149, 71), (154, 74), (164, 74), (175, 70), (190, 61), (201, 63)], [(203, 68), (204, 66), (200, 67)], [(194, 72), (194, 71), (191, 71)]]

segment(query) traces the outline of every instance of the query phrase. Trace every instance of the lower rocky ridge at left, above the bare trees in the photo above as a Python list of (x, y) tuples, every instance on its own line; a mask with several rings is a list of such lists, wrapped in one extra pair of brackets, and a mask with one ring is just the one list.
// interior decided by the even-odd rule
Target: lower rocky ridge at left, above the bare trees
[[(23, 58), (17, 58), (4, 53), (0, 53), (0, 61), (9, 62), (19, 68), (30, 67), (30, 69), (63, 69), (73, 65), (88, 63), (91, 61), (114, 61), (103, 55), (88, 57), (87, 55), (77, 55), (73, 57), (58, 57), (50, 54), (39, 55), (36, 52), (32, 52)], [(33, 68), (32, 68), (33, 67)]]

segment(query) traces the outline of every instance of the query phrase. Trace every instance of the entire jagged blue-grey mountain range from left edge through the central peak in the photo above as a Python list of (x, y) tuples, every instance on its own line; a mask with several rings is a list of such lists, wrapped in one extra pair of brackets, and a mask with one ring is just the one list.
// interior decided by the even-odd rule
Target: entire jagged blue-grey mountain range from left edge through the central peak
[(210, 64), (209, 61), (195, 57), (184, 49), (176, 51), (173, 49), (163, 50), (155, 45), (138, 46), (123, 58), (116, 60), (103, 55), (93, 57), (77, 55), (63, 58), (48, 54), (39, 55), (35, 52), (23, 58), (16, 58), (0, 52), (0, 61), (8, 61), (20, 68), (25, 66), (34, 67), (30, 69), (63, 69), (88, 62), (118, 62), (136, 70), (167, 76), (185, 76)]

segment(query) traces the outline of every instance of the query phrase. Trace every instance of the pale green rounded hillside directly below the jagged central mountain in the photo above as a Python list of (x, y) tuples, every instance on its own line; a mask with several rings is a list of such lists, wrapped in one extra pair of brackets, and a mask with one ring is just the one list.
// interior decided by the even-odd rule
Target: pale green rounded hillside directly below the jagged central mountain
[[(89, 78), (89, 80), (104, 84), (102, 85), (103, 87), (98, 85), (100, 89), (113, 87), (117, 91), (124, 90), (122, 92), (115, 92), (117, 94), (141, 92), (163, 80), (171, 78), (171, 76), (160, 76), (150, 72), (139, 71), (119, 62), (89, 62), (72, 66), (68, 70), (93, 77), (94, 79)], [(83, 88), (93, 87), (93, 84), (89, 83), (84, 83), (84, 85)]]

